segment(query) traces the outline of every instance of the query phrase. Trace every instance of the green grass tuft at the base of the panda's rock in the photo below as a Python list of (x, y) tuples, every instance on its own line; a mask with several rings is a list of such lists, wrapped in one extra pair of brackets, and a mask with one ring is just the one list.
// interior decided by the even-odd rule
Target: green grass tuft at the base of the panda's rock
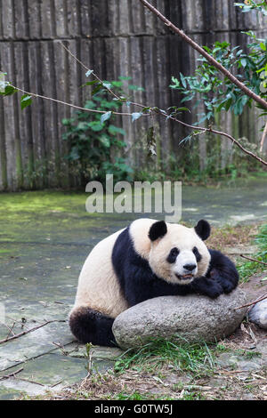
[(212, 373), (213, 351), (205, 342), (189, 343), (181, 338), (177, 342), (177, 338), (173, 341), (158, 338), (140, 349), (127, 350), (117, 359), (115, 372), (124, 373), (130, 367), (137, 372), (152, 371), (164, 365), (171, 365), (176, 371), (186, 371), (199, 377)]

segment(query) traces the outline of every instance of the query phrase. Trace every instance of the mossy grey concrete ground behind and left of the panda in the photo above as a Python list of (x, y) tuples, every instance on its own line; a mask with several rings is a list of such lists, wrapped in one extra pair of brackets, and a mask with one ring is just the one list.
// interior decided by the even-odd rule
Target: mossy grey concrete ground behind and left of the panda
[[(0, 399), (60, 390), (85, 378), (92, 362), (98, 371), (112, 367), (120, 353), (99, 347), (88, 356), (69, 332), (85, 257), (134, 219), (86, 213), (86, 197), (54, 191), (0, 195)], [(266, 180), (233, 189), (183, 187), (182, 221), (202, 218), (214, 226), (267, 220)]]

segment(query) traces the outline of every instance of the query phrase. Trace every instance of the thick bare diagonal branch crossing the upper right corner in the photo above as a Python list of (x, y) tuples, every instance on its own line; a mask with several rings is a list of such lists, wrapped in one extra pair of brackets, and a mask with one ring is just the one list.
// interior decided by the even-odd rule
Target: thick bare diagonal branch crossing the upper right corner
[(211, 55), (209, 55), (209, 53), (207, 53), (203, 48), (201, 48), (201, 46), (199, 46), (195, 41), (193, 41), (190, 36), (185, 35), (185, 33), (177, 28), (174, 23), (172, 23), (170, 20), (167, 20), (166, 17), (160, 13), (158, 11), (158, 9), (156, 9), (156, 7), (152, 6), (152, 4), (150, 4), (147, 0), (140, 0), (141, 3), (147, 7), (150, 12), (153, 12), (154, 14), (156, 14), (156, 16), (158, 16), (158, 18), (160, 20), (162, 20), (166, 26), (168, 28), (170, 28), (171, 30), (173, 30), (176, 34), (178, 34), (179, 36), (182, 37), (182, 39), (187, 42), (188, 44), (190, 44), (190, 46), (192, 48), (194, 48), (196, 51), (198, 51), (203, 57), (206, 58), (206, 60), (208, 60), (208, 62), (213, 65), (215, 68), (217, 68), (221, 73), (223, 73), (224, 76), (226, 76), (227, 78), (229, 78), (229, 80), (231, 81), (231, 83), (236, 84), (240, 90), (242, 90), (243, 92), (245, 92), (245, 94), (247, 94), (247, 96), (251, 97), (251, 99), (257, 101), (262, 107), (263, 109), (267, 109), (267, 101), (265, 101), (262, 97), (258, 96), (257, 94), (255, 94), (255, 92), (252, 92), (247, 85), (245, 85), (244, 83), (242, 83), (241, 81), (239, 81), (238, 78), (236, 78), (235, 76), (233, 76), (231, 74), (230, 71), (228, 71), (228, 69), (224, 68), (222, 64), (220, 64), (220, 62), (218, 62), (217, 60), (214, 59), (214, 57), (212, 57)]

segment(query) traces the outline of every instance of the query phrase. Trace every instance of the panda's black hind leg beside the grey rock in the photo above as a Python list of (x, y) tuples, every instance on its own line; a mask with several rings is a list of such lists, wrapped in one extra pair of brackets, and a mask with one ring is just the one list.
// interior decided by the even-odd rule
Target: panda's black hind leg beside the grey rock
[(69, 327), (79, 342), (117, 347), (112, 333), (114, 318), (86, 307), (74, 309), (69, 317)]

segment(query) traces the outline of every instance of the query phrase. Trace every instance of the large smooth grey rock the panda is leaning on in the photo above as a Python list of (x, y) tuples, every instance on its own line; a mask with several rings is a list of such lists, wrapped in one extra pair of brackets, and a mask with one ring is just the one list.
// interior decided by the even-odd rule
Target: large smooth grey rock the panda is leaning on
[(115, 319), (112, 329), (123, 349), (175, 334), (188, 342), (214, 342), (238, 328), (247, 309), (236, 308), (246, 302), (246, 293), (239, 288), (215, 300), (197, 294), (162, 296), (125, 310)]

